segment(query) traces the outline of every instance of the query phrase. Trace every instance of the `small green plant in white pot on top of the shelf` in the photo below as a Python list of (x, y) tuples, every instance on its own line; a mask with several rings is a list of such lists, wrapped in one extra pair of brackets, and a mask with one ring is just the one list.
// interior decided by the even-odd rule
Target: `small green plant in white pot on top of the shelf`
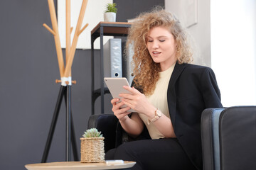
[(115, 22), (117, 17), (117, 4), (108, 3), (104, 13), (104, 21)]

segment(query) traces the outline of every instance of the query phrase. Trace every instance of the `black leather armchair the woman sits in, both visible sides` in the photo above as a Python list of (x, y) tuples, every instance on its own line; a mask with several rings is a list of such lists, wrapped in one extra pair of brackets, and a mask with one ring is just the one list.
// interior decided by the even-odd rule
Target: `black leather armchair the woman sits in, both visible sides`
[[(92, 115), (88, 128), (105, 137), (105, 152), (122, 142), (149, 138), (147, 130), (129, 137), (113, 114)], [(201, 116), (204, 170), (256, 169), (256, 106), (208, 108)]]

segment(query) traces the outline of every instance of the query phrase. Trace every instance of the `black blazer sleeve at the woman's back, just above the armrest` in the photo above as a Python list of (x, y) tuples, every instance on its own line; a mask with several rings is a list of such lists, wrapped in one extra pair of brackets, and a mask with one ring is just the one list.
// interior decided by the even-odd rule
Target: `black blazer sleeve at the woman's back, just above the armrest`
[(201, 75), (201, 89), (206, 108), (223, 108), (215, 74), (209, 67)]

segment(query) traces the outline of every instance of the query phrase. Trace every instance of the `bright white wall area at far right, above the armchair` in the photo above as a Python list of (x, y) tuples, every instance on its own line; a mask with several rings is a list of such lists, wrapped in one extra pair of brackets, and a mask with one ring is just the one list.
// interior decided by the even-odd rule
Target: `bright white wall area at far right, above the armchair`
[(214, 0), (212, 68), (223, 106), (256, 105), (256, 1)]

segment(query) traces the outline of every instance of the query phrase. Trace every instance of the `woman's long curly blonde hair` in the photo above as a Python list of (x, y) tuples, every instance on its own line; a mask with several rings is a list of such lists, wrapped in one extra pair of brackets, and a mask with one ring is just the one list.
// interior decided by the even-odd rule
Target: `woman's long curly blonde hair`
[(161, 7), (140, 14), (129, 28), (126, 49), (131, 48), (132, 45), (134, 51), (132, 57), (132, 67), (135, 75), (134, 86), (142, 89), (146, 96), (153, 94), (156, 82), (159, 80), (159, 72), (161, 72), (160, 64), (152, 60), (146, 47), (147, 34), (151, 28), (156, 26), (164, 26), (174, 35), (177, 44), (176, 57), (179, 64), (193, 61), (186, 31), (174, 15), (164, 11)]

